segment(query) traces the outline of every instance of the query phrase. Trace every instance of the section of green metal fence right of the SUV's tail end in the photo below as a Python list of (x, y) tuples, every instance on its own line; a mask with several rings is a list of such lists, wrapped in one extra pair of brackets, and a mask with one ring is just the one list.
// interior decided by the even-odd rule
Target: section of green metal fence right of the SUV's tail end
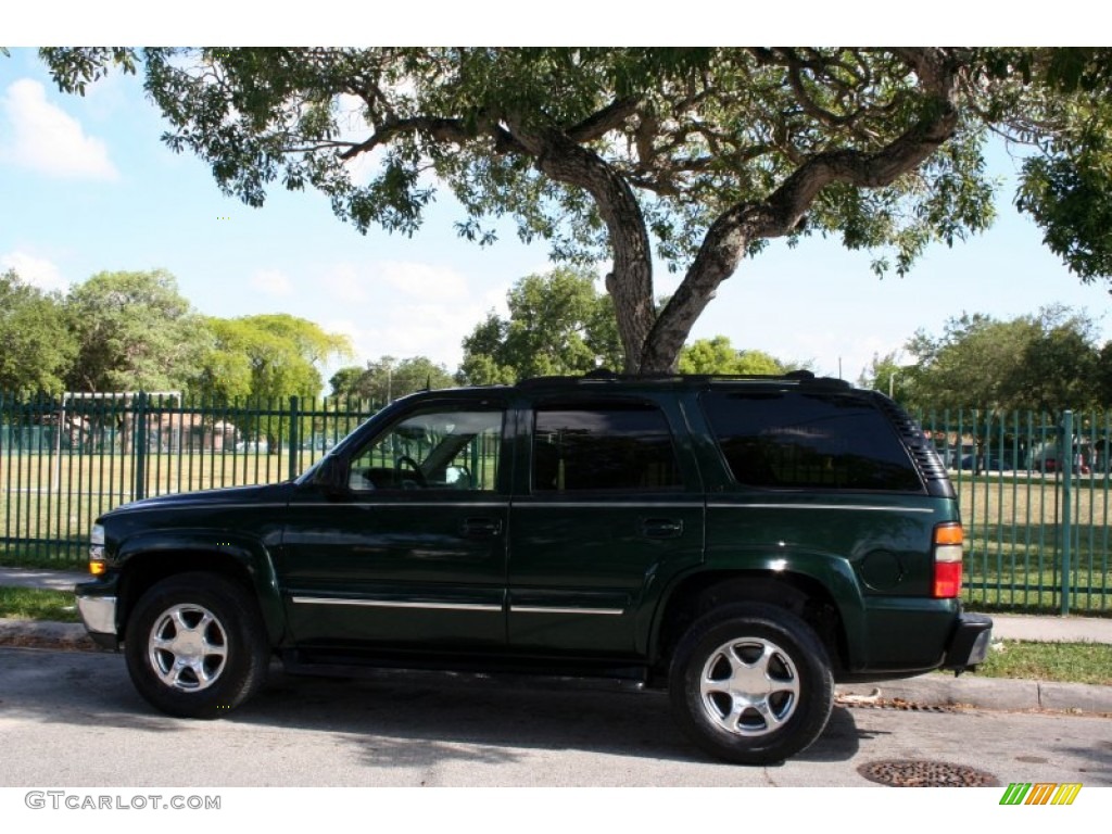
[(922, 417), (965, 526), (965, 597), (981, 608), (1112, 614), (1112, 417), (993, 410)]

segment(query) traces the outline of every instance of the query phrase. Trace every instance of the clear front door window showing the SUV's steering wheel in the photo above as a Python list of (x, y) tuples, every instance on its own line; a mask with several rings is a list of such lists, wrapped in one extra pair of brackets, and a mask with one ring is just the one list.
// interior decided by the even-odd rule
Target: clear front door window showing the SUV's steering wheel
[(351, 458), (355, 493), (383, 489), (495, 492), (502, 410), (421, 410), (375, 437)]

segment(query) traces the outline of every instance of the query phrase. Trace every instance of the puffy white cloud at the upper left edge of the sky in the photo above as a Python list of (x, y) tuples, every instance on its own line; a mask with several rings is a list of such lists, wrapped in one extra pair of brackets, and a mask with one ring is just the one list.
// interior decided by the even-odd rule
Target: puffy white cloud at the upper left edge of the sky
[(29, 78), (8, 86), (0, 99), (7, 122), (0, 159), (51, 177), (112, 180), (119, 172), (100, 139), (47, 101), (46, 88)]

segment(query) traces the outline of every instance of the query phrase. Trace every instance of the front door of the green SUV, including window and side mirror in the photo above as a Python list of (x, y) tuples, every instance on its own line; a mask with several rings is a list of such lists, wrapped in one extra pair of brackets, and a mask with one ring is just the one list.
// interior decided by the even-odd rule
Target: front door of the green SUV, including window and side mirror
[(348, 458), (347, 485), (304, 485), (284, 535), (301, 647), (504, 646), (505, 409), (423, 403)]

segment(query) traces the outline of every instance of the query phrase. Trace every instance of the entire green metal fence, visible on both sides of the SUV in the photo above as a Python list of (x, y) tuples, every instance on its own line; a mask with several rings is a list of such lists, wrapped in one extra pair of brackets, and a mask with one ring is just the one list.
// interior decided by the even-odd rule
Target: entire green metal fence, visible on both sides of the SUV
[[(99, 514), (147, 496), (294, 477), (375, 410), (297, 397), (0, 395), (0, 564), (81, 566)], [(921, 420), (961, 499), (966, 598), (979, 608), (1112, 615), (1112, 417), (961, 410)]]

